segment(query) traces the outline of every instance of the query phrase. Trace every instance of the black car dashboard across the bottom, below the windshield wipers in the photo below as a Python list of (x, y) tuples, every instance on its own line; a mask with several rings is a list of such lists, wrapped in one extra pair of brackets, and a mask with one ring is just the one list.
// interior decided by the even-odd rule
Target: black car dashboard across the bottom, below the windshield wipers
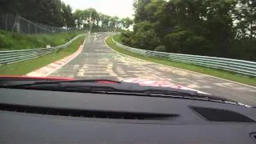
[(256, 110), (181, 98), (0, 89), (0, 143), (256, 143)]

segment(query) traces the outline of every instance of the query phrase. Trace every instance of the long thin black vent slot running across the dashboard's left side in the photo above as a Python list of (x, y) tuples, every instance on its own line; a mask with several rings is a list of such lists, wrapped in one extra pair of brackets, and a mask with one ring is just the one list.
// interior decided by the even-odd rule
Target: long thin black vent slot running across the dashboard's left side
[(137, 113), (137, 112), (120, 112), (120, 111), (99, 111), (99, 110), (77, 110), (62, 109), (40, 106), (21, 106), (0, 104), (0, 110), (13, 111), (30, 114), (47, 114), (83, 118), (113, 118), (113, 119), (138, 119), (138, 120), (159, 120), (178, 116), (178, 114), (154, 114), (154, 113)]

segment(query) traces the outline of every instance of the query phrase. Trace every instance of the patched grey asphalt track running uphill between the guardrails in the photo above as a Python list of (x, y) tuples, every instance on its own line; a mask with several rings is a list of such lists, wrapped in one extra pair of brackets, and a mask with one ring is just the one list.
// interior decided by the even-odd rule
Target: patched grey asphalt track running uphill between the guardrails
[(165, 81), (256, 106), (256, 87), (210, 77), (170, 66), (162, 66), (118, 54), (106, 46), (108, 34), (90, 34), (82, 53), (50, 76), (78, 79), (142, 78)]

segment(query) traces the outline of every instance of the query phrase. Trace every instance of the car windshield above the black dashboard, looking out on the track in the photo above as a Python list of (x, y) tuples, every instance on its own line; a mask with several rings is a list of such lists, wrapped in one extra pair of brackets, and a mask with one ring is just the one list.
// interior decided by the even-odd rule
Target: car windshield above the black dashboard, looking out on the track
[(130, 82), (256, 106), (256, 1), (1, 1), (0, 78), (21, 77)]

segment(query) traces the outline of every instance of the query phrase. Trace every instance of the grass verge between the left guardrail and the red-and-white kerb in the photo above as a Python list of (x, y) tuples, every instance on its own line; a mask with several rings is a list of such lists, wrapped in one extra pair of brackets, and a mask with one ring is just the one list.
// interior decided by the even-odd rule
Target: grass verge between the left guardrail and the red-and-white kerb
[(37, 70), (42, 66), (46, 66), (51, 62), (55, 62), (59, 59), (65, 58), (66, 56), (73, 54), (78, 50), (78, 47), (82, 45), (84, 37), (78, 38), (74, 43), (64, 50), (58, 50), (52, 54), (42, 56), (40, 58), (30, 59), (24, 62), (17, 62), (6, 66), (0, 66), (0, 74), (7, 75), (21, 75), (27, 74), (30, 71)]

